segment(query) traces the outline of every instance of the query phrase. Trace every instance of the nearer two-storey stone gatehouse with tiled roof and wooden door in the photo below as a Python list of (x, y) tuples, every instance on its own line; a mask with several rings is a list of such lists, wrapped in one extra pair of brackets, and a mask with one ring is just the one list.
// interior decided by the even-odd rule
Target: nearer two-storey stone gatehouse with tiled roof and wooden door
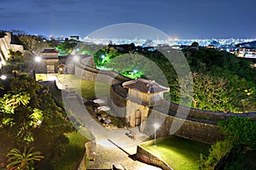
[(160, 104), (164, 93), (169, 92), (170, 88), (143, 78), (124, 82), (122, 85), (128, 88), (125, 122), (130, 127), (140, 126), (142, 130), (142, 123), (148, 118), (149, 107)]

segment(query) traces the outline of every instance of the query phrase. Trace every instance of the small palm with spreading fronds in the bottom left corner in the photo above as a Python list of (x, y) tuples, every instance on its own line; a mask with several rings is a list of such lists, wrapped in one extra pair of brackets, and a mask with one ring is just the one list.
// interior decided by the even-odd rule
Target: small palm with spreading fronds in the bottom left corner
[(33, 162), (41, 161), (44, 156), (41, 156), (39, 151), (32, 152), (32, 150), (33, 148), (27, 150), (26, 147), (22, 153), (17, 149), (10, 150), (9, 154), (7, 155), (9, 157), (9, 164), (7, 165), (7, 168), (9, 170), (33, 169)]

